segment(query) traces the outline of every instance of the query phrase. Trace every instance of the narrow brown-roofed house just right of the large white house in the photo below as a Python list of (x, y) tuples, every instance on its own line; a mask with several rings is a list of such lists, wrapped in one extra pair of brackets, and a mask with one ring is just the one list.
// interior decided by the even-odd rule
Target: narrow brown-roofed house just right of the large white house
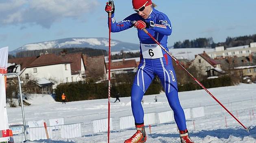
[(85, 80), (85, 64), (82, 53), (61, 53), (59, 57), (71, 61), (71, 82)]

